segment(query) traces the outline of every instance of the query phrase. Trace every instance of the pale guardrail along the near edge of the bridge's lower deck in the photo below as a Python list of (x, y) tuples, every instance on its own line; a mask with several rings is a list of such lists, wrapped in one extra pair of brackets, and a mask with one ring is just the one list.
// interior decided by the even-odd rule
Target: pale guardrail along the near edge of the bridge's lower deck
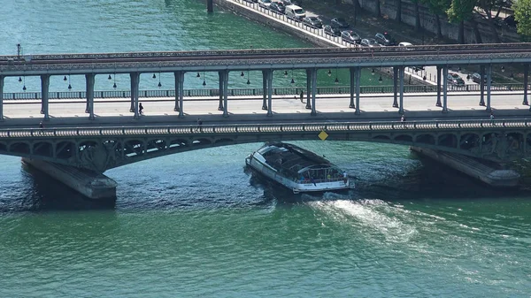
[(188, 126), (104, 126), (104, 127), (60, 127), (60, 128), (17, 128), (0, 129), (0, 139), (50, 138), (50, 137), (104, 137), (159, 134), (267, 134), (297, 132), (374, 132), (392, 130), (453, 130), (481, 128), (528, 127), (531, 119), (496, 120), (437, 120), (437, 121), (371, 121), (335, 123), (284, 123), (284, 124), (228, 124)]

